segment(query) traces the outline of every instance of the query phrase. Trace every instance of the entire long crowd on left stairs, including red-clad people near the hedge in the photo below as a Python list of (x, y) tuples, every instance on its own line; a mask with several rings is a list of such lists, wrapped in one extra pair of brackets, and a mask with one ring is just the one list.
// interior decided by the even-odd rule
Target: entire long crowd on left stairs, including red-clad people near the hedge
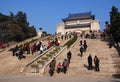
[(39, 51), (40, 54), (49, 49), (52, 46), (59, 46), (60, 41), (58, 40), (57, 37), (53, 36), (52, 38), (48, 38), (48, 45), (43, 45), (42, 41), (38, 41), (38, 42), (34, 42), (33, 44), (30, 43), (25, 43), (21, 46), (16, 45), (12, 52), (13, 52), (13, 56), (17, 56), (18, 59), (22, 59), (25, 58), (24, 53), (26, 52), (28, 55), (29, 54), (34, 54), (35, 52)]

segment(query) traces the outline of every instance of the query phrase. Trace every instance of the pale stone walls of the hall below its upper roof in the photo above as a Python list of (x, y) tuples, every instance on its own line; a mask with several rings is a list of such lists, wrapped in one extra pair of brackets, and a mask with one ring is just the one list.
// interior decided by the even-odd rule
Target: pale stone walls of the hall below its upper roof
[[(69, 28), (65, 29), (65, 25), (75, 25), (75, 24), (88, 24), (90, 23), (90, 27), (80, 27), (80, 28)], [(57, 33), (65, 34), (66, 32), (80, 32), (89, 33), (91, 31), (99, 31), (100, 30), (100, 21), (93, 19), (84, 19), (84, 20), (72, 20), (66, 21), (65, 23), (61, 23), (57, 25)]]

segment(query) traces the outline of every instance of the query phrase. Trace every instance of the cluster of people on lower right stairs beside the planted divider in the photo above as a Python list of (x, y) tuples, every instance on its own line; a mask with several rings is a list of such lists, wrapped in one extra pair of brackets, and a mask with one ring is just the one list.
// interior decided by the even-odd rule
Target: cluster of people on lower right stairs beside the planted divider
[[(70, 64), (70, 60), (71, 60), (71, 57), (72, 57), (72, 53), (71, 51), (69, 51), (67, 53), (67, 58), (64, 59), (63, 63), (58, 63), (57, 64), (57, 73), (60, 73), (60, 72), (63, 72), (64, 74), (66, 74), (67, 72), (67, 68), (69, 67), (69, 64)], [(49, 74), (50, 76), (53, 76), (54, 74), (54, 71), (55, 71), (55, 66), (56, 66), (56, 60), (53, 59), (52, 62), (50, 63), (49, 67), (50, 67), (50, 70), (49, 70)]]

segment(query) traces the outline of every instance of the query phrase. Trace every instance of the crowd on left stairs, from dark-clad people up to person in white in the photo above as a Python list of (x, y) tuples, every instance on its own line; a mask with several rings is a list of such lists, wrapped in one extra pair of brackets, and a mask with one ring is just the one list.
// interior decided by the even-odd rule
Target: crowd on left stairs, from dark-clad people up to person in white
[(30, 53), (33, 55), (37, 51), (40, 51), (40, 53), (42, 53), (46, 49), (47, 49), (47, 46), (43, 45), (42, 41), (39, 41), (38, 43), (34, 43), (34, 44), (26, 43), (21, 46), (16, 45), (12, 51), (13, 51), (13, 56), (17, 56), (18, 59), (21, 60), (22, 58), (25, 58), (25, 55), (24, 55), (25, 52), (28, 55)]

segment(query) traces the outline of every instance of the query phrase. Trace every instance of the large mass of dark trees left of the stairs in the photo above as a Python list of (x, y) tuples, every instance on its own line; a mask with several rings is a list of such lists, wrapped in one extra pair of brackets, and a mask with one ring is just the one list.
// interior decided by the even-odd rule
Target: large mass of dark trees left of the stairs
[(0, 13), (0, 42), (23, 41), (36, 36), (34, 26), (29, 26), (26, 13), (19, 11), (9, 16)]

